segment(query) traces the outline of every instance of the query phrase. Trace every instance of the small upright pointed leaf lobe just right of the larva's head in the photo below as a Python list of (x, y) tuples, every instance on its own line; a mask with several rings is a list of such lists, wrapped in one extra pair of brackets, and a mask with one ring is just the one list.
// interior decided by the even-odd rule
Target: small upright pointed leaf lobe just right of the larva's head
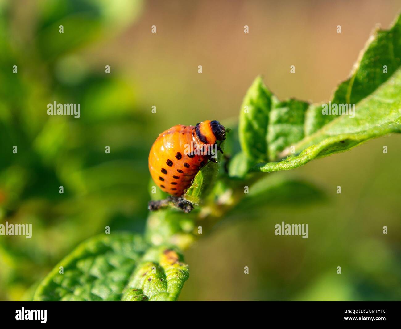
[(256, 162), (267, 161), (267, 124), (271, 92), (257, 77), (243, 100), (239, 115), (239, 142), (245, 156)]

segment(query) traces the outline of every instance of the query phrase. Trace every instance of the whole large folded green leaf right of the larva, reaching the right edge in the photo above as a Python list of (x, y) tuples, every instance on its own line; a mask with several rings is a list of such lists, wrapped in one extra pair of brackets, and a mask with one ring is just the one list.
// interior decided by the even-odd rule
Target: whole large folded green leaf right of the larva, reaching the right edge
[[(244, 103), (250, 98), (253, 104), (266, 106), (253, 106), (251, 116), (245, 116), (241, 108), (240, 125), (242, 122), (244, 127), (246, 122), (250, 131), (239, 129), (246, 158), (243, 155), (234, 158), (237, 163), (233, 168), (245, 168), (245, 161), (257, 159), (249, 150), (252, 145), (258, 154), (263, 152), (261, 145), (264, 145), (269, 161), (287, 157), (251, 168), (251, 171), (272, 172), (297, 168), (312, 159), (348, 150), (369, 139), (400, 132), (401, 16), (388, 31), (375, 31), (359, 58), (351, 77), (338, 86), (330, 101), (337, 106), (355, 106), (354, 117), (324, 114), (322, 104), (308, 105), (298, 100), (279, 102), (269, 92), (260, 92), (263, 83), (257, 78)], [(384, 66), (387, 66), (387, 73)], [(264, 138), (262, 126), (266, 123), (267, 137)]]

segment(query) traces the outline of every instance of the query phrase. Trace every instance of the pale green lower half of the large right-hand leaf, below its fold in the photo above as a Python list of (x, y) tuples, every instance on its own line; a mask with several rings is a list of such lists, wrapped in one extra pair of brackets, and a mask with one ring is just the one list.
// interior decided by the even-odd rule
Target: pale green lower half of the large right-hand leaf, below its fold
[(300, 167), (312, 159), (345, 151), (369, 139), (401, 132), (401, 70), (356, 104), (355, 117), (340, 116), (295, 145), (301, 152), (254, 170), (274, 172)]

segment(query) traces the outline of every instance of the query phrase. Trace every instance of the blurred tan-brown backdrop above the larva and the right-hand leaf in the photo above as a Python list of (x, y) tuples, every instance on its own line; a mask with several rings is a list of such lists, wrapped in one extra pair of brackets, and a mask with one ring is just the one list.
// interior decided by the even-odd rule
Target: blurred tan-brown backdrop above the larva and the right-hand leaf
[(136, 24), (86, 55), (124, 70), (166, 126), (176, 114), (222, 119), (237, 116), (259, 74), (279, 98), (327, 100), (374, 27), (387, 28), (400, 9), (399, 1), (146, 1)]

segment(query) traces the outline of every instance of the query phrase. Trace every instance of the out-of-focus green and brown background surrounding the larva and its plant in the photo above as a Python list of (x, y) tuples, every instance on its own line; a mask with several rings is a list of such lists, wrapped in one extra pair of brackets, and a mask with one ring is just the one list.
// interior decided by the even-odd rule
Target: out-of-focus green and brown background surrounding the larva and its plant
[[(0, 0), (0, 220), (33, 226), (32, 239), (0, 236), (0, 300), (30, 298), (106, 225), (143, 231), (158, 133), (235, 119), (259, 74), (281, 99), (328, 100), (373, 28), (400, 9), (399, 0)], [(80, 103), (81, 118), (49, 117), (54, 100)], [(185, 252), (179, 300), (399, 300), (400, 141), (269, 174), (302, 179), (322, 197), (232, 214)], [(282, 221), (308, 223), (309, 238), (275, 236)]]

